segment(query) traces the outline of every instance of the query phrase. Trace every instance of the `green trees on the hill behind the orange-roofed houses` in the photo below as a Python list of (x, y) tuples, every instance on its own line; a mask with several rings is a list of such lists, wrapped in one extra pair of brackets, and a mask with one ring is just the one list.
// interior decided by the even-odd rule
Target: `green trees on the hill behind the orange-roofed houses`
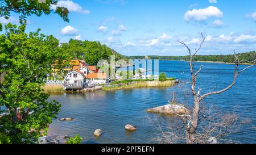
[(62, 47), (74, 58), (84, 59), (89, 65), (97, 65), (101, 59), (110, 60), (111, 55), (115, 55), (115, 60), (124, 58), (124, 56), (115, 52), (113, 49), (97, 41), (69, 40)]

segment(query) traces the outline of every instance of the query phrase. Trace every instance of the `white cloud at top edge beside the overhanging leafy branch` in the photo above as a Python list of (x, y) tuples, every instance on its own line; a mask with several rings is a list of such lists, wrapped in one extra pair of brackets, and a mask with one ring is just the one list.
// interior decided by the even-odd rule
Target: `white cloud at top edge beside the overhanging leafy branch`
[(79, 4), (74, 3), (73, 1), (70, 1), (70, 0), (58, 1), (57, 5), (53, 5), (51, 7), (53, 10), (56, 10), (57, 6), (66, 7), (69, 12), (79, 12), (81, 14), (89, 14), (90, 13), (89, 10), (82, 9), (82, 7)]

